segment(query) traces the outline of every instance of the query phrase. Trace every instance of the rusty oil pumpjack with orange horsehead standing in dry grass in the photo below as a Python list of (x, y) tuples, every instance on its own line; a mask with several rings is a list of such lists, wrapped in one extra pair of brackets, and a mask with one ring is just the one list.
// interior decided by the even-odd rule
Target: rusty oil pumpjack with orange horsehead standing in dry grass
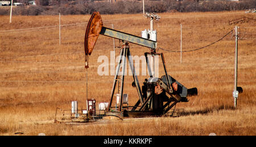
[[(120, 48), (120, 55), (117, 68), (115, 70), (114, 81), (112, 86), (112, 93), (109, 98), (109, 105), (105, 111), (106, 116), (117, 117), (144, 117), (144, 116), (161, 116), (166, 114), (172, 107), (179, 102), (188, 102), (187, 96), (197, 95), (196, 87), (187, 89), (175, 78), (167, 74), (166, 62), (164, 61), (163, 53), (156, 53), (157, 42), (143, 37), (131, 35), (129, 33), (113, 30), (103, 26), (100, 12), (94, 12), (89, 19), (88, 26), (86, 27), (84, 49), (85, 49), (85, 68), (89, 68), (88, 57), (92, 53), (94, 45), (99, 35), (112, 37), (122, 41)], [(149, 78), (144, 79), (143, 86), (139, 85), (138, 77), (135, 72), (132, 58), (130, 58), (130, 46), (129, 43), (138, 44), (143, 47), (150, 48), (150, 52), (145, 52), (146, 64)], [(150, 68), (150, 62), (148, 56), (159, 56), (162, 60), (165, 74), (162, 77), (154, 77)], [(129, 57), (129, 58), (128, 58)], [(126, 58), (129, 61), (130, 69), (133, 73), (134, 82), (132, 85), (136, 87), (138, 92), (138, 102), (131, 107), (131, 109), (124, 109), (122, 105), (123, 100), (123, 87), (125, 81), (125, 68), (121, 71), (121, 87), (120, 87), (120, 99), (117, 110), (113, 110), (112, 102), (117, 87), (118, 75), (122, 67), (126, 67)]]

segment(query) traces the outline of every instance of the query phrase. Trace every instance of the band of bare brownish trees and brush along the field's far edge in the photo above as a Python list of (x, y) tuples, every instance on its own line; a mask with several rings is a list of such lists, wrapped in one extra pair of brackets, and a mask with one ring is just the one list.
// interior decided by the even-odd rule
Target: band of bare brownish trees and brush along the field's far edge
[[(42, 2), (41, 2), (42, 1)], [(142, 1), (118, 1), (109, 3), (106, 1), (36, 1), (36, 6), (15, 7), (14, 15), (62, 15), (92, 14), (100, 11), (101, 14), (135, 14), (141, 13)], [(44, 6), (46, 5), (46, 6)], [(50, 6), (49, 6), (50, 5)], [(255, 0), (243, 1), (183, 1), (163, 0), (145, 1), (146, 12), (195, 12), (195, 11), (234, 11), (254, 9)], [(10, 11), (1, 9), (0, 15), (7, 15)]]

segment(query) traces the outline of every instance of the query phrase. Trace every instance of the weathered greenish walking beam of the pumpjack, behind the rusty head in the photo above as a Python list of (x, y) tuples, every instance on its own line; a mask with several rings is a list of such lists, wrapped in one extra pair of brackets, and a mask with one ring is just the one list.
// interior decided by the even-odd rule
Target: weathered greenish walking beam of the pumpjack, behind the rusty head
[(128, 41), (130, 43), (142, 45), (143, 47), (156, 49), (156, 41), (144, 39), (142, 37), (131, 35), (129, 33), (120, 32), (120, 31), (116, 31), (116, 30), (113, 30), (110, 28), (102, 27), (100, 34), (109, 36), (109, 37), (113, 37), (115, 39)]

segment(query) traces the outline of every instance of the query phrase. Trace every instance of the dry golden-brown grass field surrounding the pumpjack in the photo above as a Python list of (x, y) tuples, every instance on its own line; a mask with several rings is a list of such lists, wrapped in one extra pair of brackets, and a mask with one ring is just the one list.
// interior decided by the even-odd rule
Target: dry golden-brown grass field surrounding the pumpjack
[[(155, 23), (158, 47), (180, 50), (180, 24), (183, 27), (183, 51), (204, 47), (234, 29), (229, 20), (255, 19), (244, 11), (163, 13)], [(142, 14), (101, 15), (104, 26), (141, 36), (150, 28)], [(106, 123), (54, 124), (56, 108), (71, 109), (77, 100), (86, 108), (86, 70), (84, 68), (84, 34), (90, 15), (0, 16), (0, 135), (256, 135), (256, 22), (246, 19), (238, 27), (237, 107), (233, 104), (234, 32), (207, 48), (180, 53), (163, 52), (167, 72), (185, 87), (197, 87), (198, 96), (189, 97), (180, 117), (147, 117), (106, 121)], [(115, 40), (115, 45), (119, 41)], [(115, 54), (119, 49), (115, 49)], [(130, 44), (132, 55), (142, 56), (149, 49)], [(113, 75), (100, 76), (99, 56), (110, 57), (113, 39), (99, 36), (89, 57), (88, 98), (108, 102)], [(159, 75), (163, 75), (162, 66)], [(139, 75), (142, 85), (144, 78)], [(137, 100), (131, 86), (132, 76), (125, 77), (124, 93), (129, 105)], [(57, 119), (61, 119), (57, 115)], [(18, 135), (21, 135), (20, 133)]]

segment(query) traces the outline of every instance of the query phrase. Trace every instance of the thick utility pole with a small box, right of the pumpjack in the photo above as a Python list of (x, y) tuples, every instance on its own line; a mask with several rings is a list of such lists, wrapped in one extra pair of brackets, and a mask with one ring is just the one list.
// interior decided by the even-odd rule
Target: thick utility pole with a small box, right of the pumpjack
[(234, 107), (237, 107), (237, 99), (238, 99), (238, 91), (237, 91), (237, 50), (238, 50), (238, 32), (237, 26), (235, 27), (236, 30), (236, 51), (235, 51), (235, 62), (234, 62), (234, 91), (233, 91), (233, 98), (234, 98)]

